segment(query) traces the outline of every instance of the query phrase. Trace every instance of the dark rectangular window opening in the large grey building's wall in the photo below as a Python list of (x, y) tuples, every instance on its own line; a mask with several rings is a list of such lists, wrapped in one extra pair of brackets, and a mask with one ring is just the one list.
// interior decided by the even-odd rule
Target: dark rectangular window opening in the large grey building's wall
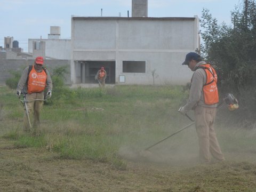
[(123, 61), (123, 73), (146, 73), (146, 61)]

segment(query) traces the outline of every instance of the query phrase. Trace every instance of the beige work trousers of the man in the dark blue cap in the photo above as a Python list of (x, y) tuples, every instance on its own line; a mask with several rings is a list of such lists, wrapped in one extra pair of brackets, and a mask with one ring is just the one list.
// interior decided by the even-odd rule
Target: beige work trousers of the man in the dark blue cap
[(199, 140), (199, 159), (202, 163), (210, 163), (211, 155), (219, 161), (225, 160), (214, 130), (217, 108), (195, 108), (196, 132)]

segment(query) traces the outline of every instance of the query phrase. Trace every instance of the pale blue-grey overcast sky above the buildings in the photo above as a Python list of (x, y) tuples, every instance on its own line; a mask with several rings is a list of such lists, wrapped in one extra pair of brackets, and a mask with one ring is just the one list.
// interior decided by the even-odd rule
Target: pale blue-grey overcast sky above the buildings
[[(148, 0), (148, 17), (201, 17), (209, 9), (218, 22), (230, 23), (230, 12), (243, 0)], [(61, 38), (71, 37), (71, 15), (131, 17), (132, 0), (0, 0), (0, 46), (11, 36), (27, 51), (28, 38), (48, 38), (60, 26)]]

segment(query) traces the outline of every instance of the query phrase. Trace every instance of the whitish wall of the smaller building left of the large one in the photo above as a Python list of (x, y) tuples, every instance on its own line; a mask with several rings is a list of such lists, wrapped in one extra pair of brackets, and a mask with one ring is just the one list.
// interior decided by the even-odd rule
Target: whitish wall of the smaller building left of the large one
[(70, 39), (28, 39), (28, 52), (33, 53), (33, 42), (45, 42), (45, 57), (54, 59), (67, 59), (71, 57)]

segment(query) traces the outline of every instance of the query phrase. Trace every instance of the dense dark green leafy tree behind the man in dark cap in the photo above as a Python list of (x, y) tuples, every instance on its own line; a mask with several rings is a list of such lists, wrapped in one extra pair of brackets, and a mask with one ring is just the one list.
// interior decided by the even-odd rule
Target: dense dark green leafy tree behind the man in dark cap
[[(238, 95), (242, 113), (256, 113), (256, 3), (244, 0), (231, 12), (231, 26), (218, 22), (209, 10), (202, 11), (200, 26), (205, 59), (217, 70), (220, 90)], [(242, 115), (243, 117), (243, 115)]]

